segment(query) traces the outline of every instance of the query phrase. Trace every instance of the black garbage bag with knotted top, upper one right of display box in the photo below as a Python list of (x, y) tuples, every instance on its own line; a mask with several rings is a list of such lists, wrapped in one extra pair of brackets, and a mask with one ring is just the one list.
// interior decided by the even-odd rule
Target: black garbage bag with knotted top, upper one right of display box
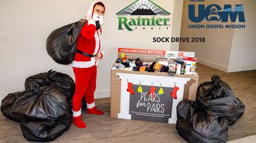
[(229, 85), (222, 81), (220, 76), (213, 75), (211, 80), (201, 83), (197, 88), (198, 106), (226, 118), (229, 125), (235, 124), (245, 112), (245, 105), (235, 98)]

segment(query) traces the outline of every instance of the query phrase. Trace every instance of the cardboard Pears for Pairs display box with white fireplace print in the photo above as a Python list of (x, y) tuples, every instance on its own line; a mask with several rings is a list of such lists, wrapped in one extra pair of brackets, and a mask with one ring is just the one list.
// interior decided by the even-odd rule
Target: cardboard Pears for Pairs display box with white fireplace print
[[(133, 50), (126, 48), (119, 48), (118, 50), (119, 56), (120, 52), (123, 52), (127, 56), (139, 57), (142, 61), (153, 61), (156, 56), (157, 58), (166, 58), (170, 55), (168, 54), (170, 51), (162, 50)], [(171, 52), (175, 53), (175, 51)], [(178, 56), (180, 53), (182, 52), (177, 51), (175, 54)], [(191, 53), (182, 53), (182, 55), (183, 54)], [(192, 55), (194, 55), (194, 53), (192, 53)], [(132, 59), (132, 57), (127, 57), (127, 59)], [(175, 124), (176, 105), (178, 105), (182, 99), (196, 100), (198, 79), (198, 74), (168, 76), (167, 73), (135, 72), (112, 69), (111, 117)], [(135, 92), (135, 95), (126, 91), (128, 82), (133, 83), (132, 89)], [(143, 88), (143, 92), (141, 93), (137, 91), (139, 83), (141, 83)], [(164, 90), (163, 94), (159, 93), (160, 85)], [(177, 99), (172, 97), (172, 91), (175, 86), (179, 87)], [(153, 96), (148, 94), (151, 87), (155, 87), (156, 89), (154, 96), (157, 98), (155, 98), (155, 100), (152, 98)]]

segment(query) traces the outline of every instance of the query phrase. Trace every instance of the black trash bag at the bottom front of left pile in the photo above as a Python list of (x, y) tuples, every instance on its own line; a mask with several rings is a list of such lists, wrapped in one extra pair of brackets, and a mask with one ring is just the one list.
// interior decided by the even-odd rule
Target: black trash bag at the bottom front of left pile
[(28, 141), (53, 141), (67, 131), (72, 123), (72, 115), (60, 121), (42, 120), (20, 122), (22, 134)]

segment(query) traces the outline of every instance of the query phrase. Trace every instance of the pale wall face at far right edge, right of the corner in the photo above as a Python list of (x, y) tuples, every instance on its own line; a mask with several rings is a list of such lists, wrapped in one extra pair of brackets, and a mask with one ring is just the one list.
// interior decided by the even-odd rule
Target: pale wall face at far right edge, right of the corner
[(256, 1), (243, 0), (246, 29), (235, 29), (228, 72), (256, 69)]

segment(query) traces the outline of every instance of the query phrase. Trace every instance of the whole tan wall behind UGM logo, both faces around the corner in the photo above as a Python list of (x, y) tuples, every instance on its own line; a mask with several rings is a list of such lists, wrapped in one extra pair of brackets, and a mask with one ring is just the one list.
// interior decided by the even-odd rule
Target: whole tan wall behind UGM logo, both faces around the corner
[[(239, 72), (256, 69), (256, 28), (254, 8), (256, 1), (250, 0), (223, 0), (205, 1), (196, 4), (243, 4), (246, 29), (189, 29), (188, 24), (197, 24), (188, 18), (188, 2), (184, 0), (182, 13), (181, 37), (205, 37), (204, 43), (180, 43), (180, 50), (194, 51), (198, 62), (224, 72)], [(197, 11), (196, 11), (197, 12)], [(203, 21), (198, 24), (222, 24), (220, 22)], [(234, 24), (230, 21), (227, 24)]]

